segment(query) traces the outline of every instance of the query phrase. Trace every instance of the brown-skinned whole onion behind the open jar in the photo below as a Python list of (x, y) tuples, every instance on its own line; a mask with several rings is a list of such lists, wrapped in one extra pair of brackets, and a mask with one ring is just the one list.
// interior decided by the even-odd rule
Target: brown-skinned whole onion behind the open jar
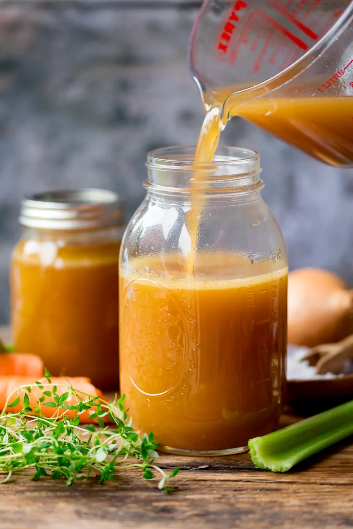
[(334, 273), (301, 268), (288, 274), (288, 343), (315, 347), (353, 333), (353, 291)]

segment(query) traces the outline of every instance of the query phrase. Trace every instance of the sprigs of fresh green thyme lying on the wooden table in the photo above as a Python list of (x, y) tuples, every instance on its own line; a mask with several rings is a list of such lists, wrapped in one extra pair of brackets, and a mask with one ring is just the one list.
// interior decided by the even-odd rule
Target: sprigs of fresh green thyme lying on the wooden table
[[(31, 408), (29, 395), (34, 387), (42, 395)], [(21, 404), (22, 395), (22, 410), (6, 412)], [(77, 404), (70, 404), (73, 397)], [(6, 475), (2, 483), (13, 472), (33, 468), (34, 480), (51, 476), (64, 478), (71, 485), (79, 478), (88, 479), (95, 471), (100, 475), (99, 483), (103, 484), (106, 479), (113, 481), (121, 468), (138, 467), (145, 479), (152, 479), (158, 473), (158, 488), (170, 492), (170, 479), (179, 469), (168, 474), (157, 466), (155, 437), (150, 433), (139, 439), (127, 419), (124, 399), (124, 395), (120, 398), (115, 395), (114, 402), (109, 403), (78, 391), (69, 382), (60, 387), (58, 394), (58, 386), (51, 384), (48, 371), (35, 384), (17, 388), (8, 396), (0, 414), (0, 473)], [(44, 417), (41, 406), (53, 408), (52, 417)], [(96, 419), (97, 426), (81, 425), (79, 414), (83, 412), (88, 412), (90, 419)], [(68, 413), (76, 417), (67, 417)], [(104, 417), (110, 419), (113, 427), (104, 424)]]

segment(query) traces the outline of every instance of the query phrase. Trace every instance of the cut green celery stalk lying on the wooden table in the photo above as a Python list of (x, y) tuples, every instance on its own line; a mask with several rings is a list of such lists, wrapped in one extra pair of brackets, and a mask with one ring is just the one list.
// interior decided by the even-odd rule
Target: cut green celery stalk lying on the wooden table
[(255, 467), (287, 472), (310, 455), (353, 434), (353, 400), (249, 441)]

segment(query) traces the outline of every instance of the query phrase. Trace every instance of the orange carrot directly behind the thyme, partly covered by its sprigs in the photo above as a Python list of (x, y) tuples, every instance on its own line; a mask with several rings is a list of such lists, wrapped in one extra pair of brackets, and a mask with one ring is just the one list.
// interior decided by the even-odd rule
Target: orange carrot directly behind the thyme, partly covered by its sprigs
[[(17, 413), (20, 412), (23, 408), (23, 397), (26, 392), (24, 389), (21, 389), (19, 392), (15, 391), (19, 386), (31, 386), (32, 384), (35, 384), (35, 381), (38, 380), (37, 378), (33, 377), (2, 377), (0, 376), (0, 409), (4, 409), (4, 406), (6, 404), (6, 399), (9, 395), (13, 393), (13, 396), (10, 398), (10, 402), (8, 404), (11, 404), (14, 402), (14, 400), (17, 398), (17, 396), (20, 396), (20, 403), (16, 406), (13, 406), (11, 408), (7, 408), (7, 412)], [(43, 384), (44, 388), (41, 390), (37, 385), (33, 388), (31, 388), (31, 393), (28, 394), (30, 398), (30, 407), (34, 408), (35, 406), (38, 406), (38, 399), (42, 396), (42, 391), (51, 391), (53, 390), (53, 387), (56, 386), (56, 393), (58, 395), (62, 395), (67, 392), (67, 386), (71, 385), (76, 391), (79, 393), (79, 397), (76, 397), (75, 395), (71, 396), (70, 400), (66, 401), (66, 404), (69, 405), (75, 405), (79, 402), (79, 400), (87, 400), (89, 395), (90, 397), (104, 397), (102, 392), (95, 388), (91, 383), (89, 378), (85, 377), (51, 377), (50, 378), (51, 383), (48, 383), (48, 380), (42, 379), (41, 384)], [(59, 414), (65, 412), (65, 416), (68, 418), (76, 417), (77, 413), (74, 410), (67, 410), (65, 408), (51, 408), (49, 406), (44, 406), (44, 403), (46, 402), (53, 402), (53, 397), (45, 397), (45, 400), (41, 403), (41, 412), (44, 417), (52, 417), (53, 415), (56, 415), (58, 412)], [(94, 408), (93, 408), (94, 409)], [(90, 419), (88, 410), (84, 411), (83, 413), (79, 414), (80, 416), (80, 422), (82, 424), (85, 423), (92, 423), (96, 422), (96, 419)]]

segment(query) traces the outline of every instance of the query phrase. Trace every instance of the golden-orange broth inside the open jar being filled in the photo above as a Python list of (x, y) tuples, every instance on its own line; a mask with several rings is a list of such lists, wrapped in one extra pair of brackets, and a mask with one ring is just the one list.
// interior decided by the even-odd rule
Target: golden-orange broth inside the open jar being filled
[[(164, 272), (152, 257), (120, 270), (121, 389), (133, 424), (162, 445), (231, 449), (273, 430), (282, 411), (287, 269), (258, 263), (244, 279), (241, 256), (197, 261), (192, 281), (172, 256)], [(224, 279), (212, 279), (220, 263)]]

